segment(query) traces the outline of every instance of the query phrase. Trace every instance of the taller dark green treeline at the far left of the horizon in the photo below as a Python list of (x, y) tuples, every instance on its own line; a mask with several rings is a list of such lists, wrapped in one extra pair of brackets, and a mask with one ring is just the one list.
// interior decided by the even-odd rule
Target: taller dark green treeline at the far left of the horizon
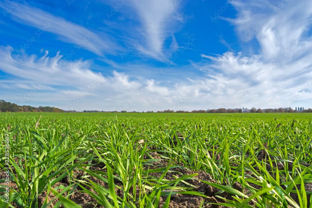
[(38, 108), (32, 107), (29, 105), (17, 105), (15, 103), (6, 102), (4, 100), (0, 100), (0, 112), (54, 112), (54, 113), (63, 113), (64, 110), (54, 108), (54, 107), (42, 107)]

